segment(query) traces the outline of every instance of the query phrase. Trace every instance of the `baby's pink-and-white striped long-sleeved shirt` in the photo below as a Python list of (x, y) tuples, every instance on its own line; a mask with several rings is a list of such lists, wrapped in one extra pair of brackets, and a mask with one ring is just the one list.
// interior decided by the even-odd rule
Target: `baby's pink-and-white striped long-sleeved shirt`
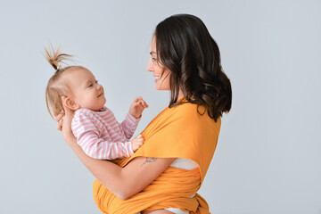
[(103, 111), (78, 109), (74, 113), (71, 129), (88, 156), (113, 160), (134, 153), (129, 139), (134, 135), (139, 120), (128, 113), (119, 124), (107, 107), (103, 107)]

